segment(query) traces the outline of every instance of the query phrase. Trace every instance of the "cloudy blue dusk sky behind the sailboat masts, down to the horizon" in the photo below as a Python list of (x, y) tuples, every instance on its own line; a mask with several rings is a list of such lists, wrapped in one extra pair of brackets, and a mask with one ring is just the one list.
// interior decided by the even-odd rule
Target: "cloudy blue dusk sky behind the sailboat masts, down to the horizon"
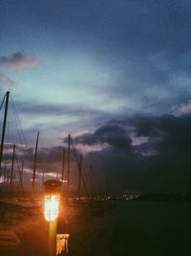
[(39, 174), (71, 133), (99, 187), (190, 192), (190, 28), (188, 0), (1, 1), (0, 94), (26, 173), (38, 130)]

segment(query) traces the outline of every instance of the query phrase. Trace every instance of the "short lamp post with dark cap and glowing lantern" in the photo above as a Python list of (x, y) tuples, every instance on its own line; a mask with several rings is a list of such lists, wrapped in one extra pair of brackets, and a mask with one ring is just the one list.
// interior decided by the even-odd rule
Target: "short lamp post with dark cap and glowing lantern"
[(56, 179), (49, 179), (44, 182), (44, 215), (46, 221), (49, 221), (49, 256), (55, 256), (56, 253), (57, 217), (61, 185), (62, 182)]

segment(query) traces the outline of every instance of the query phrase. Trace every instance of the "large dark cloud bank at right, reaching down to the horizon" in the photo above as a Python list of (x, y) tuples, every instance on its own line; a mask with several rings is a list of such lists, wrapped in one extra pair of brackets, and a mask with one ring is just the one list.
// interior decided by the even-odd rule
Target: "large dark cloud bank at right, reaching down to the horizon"
[[(191, 116), (188, 115), (137, 116), (129, 120), (113, 120), (94, 133), (76, 137), (74, 142), (84, 146), (108, 143), (113, 147), (112, 151), (104, 148), (86, 155), (100, 170), (102, 186), (107, 177), (117, 191), (189, 191), (190, 128)], [(134, 146), (133, 138), (142, 136), (148, 140)], [(119, 151), (126, 148), (131, 153)]]

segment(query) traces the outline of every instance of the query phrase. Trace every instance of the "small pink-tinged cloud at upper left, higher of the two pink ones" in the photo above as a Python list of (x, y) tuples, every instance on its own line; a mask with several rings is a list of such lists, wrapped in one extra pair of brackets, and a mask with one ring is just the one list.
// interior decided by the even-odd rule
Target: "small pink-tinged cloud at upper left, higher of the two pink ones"
[(23, 69), (37, 65), (37, 60), (22, 53), (15, 53), (11, 56), (0, 56), (0, 66), (8, 65), (17, 69)]

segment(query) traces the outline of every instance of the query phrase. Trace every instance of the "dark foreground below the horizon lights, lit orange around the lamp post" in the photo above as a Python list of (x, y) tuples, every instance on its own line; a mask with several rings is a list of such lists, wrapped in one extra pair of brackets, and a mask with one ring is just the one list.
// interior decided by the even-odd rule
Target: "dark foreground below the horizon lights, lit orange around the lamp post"
[[(0, 230), (13, 230), (19, 246), (1, 256), (45, 256), (47, 222), (42, 209), (0, 204)], [(64, 203), (58, 233), (69, 233), (69, 256), (189, 256), (190, 201)], [(63, 254), (64, 255), (64, 254)]]

